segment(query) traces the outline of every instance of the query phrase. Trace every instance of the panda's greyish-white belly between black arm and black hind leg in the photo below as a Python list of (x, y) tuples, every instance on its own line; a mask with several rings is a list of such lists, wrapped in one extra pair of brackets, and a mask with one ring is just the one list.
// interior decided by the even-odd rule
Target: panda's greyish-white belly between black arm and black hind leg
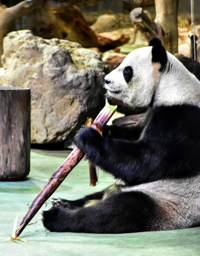
[(157, 205), (155, 225), (163, 229), (187, 228), (200, 224), (200, 175), (187, 179), (158, 180), (120, 188), (141, 191)]

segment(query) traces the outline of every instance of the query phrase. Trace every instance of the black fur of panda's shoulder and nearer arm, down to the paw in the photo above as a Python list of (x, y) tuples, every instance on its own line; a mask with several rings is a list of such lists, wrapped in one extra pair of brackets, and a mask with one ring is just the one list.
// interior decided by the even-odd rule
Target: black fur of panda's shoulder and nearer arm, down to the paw
[(93, 164), (133, 185), (199, 173), (199, 127), (198, 107), (157, 107), (152, 109), (142, 139), (103, 138), (87, 127), (80, 130), (75, 143)]

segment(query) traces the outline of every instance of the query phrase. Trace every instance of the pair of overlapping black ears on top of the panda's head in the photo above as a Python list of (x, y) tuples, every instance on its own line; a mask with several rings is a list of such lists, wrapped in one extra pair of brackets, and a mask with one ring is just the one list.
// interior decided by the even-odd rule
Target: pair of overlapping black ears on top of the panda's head
[(159, 71), (162, 71), (167, 63), (167, 52), (162, 45), (162, 41), (158, 37), (154, 37), (149, 41), (149, 46), (152, 46), (152, 62), (160, 63)]

